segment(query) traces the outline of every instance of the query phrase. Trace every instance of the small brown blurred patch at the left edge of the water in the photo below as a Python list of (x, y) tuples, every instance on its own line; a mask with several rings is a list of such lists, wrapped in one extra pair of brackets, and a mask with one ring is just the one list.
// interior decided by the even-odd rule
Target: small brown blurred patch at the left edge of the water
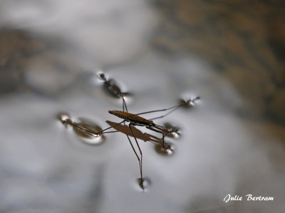
[(1, 28), (0, 47), (0, 95), (26, 90), (24, 67), (31, 56), (43, 51), (43, 42), (21, 30)]

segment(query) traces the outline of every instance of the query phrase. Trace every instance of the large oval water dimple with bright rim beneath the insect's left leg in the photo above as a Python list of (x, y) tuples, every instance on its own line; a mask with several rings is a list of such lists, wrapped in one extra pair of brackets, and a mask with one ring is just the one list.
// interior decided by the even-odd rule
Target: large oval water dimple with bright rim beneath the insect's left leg
[(79, 118), (78, 120), (78, 122), (74, 123), (73, 130), (83, 142), (88, 145), (98, 145), (105, 140), (103, 134), (95, 135), (95, 133), (102, 131), (102, 128), (98, 124), (85, 118)]

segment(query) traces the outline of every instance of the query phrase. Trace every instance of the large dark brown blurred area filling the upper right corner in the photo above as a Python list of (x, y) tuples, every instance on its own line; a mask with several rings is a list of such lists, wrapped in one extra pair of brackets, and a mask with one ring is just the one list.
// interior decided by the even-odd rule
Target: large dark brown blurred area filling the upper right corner
[(154, 46), (204, 58), (262, 115), (285, 124), (284, 1), (153, 2), (162, 16)]

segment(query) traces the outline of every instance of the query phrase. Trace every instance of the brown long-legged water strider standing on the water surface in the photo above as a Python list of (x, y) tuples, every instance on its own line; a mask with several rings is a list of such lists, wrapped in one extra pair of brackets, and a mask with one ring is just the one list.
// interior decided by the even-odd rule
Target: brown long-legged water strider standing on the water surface
[[(120, 123), (115, 123), (115, 125), (110, 125), (110, 127), (105, 128), (104, 130), (98, 130), (98, 131), (96, 131), (97, 129), (95, 130), (92, 128), (88, 128), (88, 126), (86, 126), (86, 125), (80, 125), (80, 123), (73, 123), (73, 121), (69, 118), (69, 116), (65, 115), (65, 114), (62, 114), (61, 122), (64, 125), (72, 125), (73, 128), (78, 128), (78, 130), (83, 130), (84, 132), (89, 133), (91, 136), (94, 136), (94, 137), (102, 137), (102, 135), (105, 133), (117, 132), (117, 131), (106, 132), (106, 130), (109, 130), (110, 128), (115, 128), (116, 126), (118, 126), (122, 123), (128, 122), (129, 123), (128, 128), (130, 129), (131, 135), (135, 138), (135, 143), (136, 143), (138, 150), (140, 152), (139, 155), (138, 155), (138, 152), (135, 150), (135, 147), (133, 146), (133, 142), (130, 140), (129, 135), (128, 134), (125, 134), (125, 135), (127, 136), (128, 141), (130, 142), (130, 146), (132, 147), (133, 152), (135, 153), (135, 156), (138, 158), (138, 162), (140, 165), (140, 178), (138, 179), (139, 185), (142, 189), (145, 189), (145, 185), (147, 184), (147, 180), (145, 178), (143, 178), (143, 176), (142, 176), (142, 150), (140, 149), (140, 145), (138, 144), (137, 137), (135, 136), (134, 129), (133, 129), (134, 126), (142, 126), (142, 127), (145, 127), (149, 130), (152, 130), (156, 133), (161, 133), (162, 134), (162, 139), (161, 139), (162, 142), (161, 142), (161, 146), (159, 147), (158, 152), (165, 153), (165, 155), (171, 155), (173, 151), (172, 151), (170, 145), (165, 145), (165, 136), (178, 135), (178, 133), (177, 133), (178, 129), (173, 128), (170, 125), (168, 125), (168, 126), (158, 125), (158, 124), (154, 123), (153, 120), (159, 119), (159, 118), (164, 118), (165, 116), (174, 112), (178, 108), (190, 107), (190, 106), (194, 105), (195, 101), (198, 100), (199, 97), (194, 98), (194, 99), (181, 100), (180, 104), (174, 105), (170, 108), (165, 108), (165, 109), (160, 109), (160, 110), (150, 110), (150, 111), (143, 112), (143, 113), (133, 114), (133, 113), (128, 112), (127, 104), (125, 102), (125, 96), (128, 93), (122, 93), (120, 90), (120, 87), (117, 85), (117, 83), (115, 83), (115, 80), (113, 80), (112, 78), (108, 79), (104, 73), (102, 73), (102, 72), (98, 73), (98, 78), (100, 80), (103, 80), (104, 88), (108, 91), (108, 93), (110, 95), (112, 95), (115, 98), (121, 98), (122, 99), (123, 110), (109, 110), (108, 112), (112, 115), (117, 116), (118, 118), (122, 118), (123, 121), (121, 121)], [(163, 112), (163, 111), (165, 111), (167, 113), (165, 113), (164, 115), (155, 117), (155, 118), (151, 118), (151, 119), (142, 118), (142, 116), (140, 116), (140, 115), (145, 115), (148, 113), (158, 113), (158, 112)]]

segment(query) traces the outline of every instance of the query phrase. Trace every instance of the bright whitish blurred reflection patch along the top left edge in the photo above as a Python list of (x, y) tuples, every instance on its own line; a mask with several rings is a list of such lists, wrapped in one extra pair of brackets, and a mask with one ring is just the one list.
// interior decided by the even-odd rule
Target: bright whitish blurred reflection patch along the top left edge
[[(84, 61), (120, 63), (147, 48), (157, 16), (147, 1), (1, 1), (4, 26), (59, 36)], [(88, 58), (90, 57), (90, 58)], [(111, 58), (111, 59), (110, 59)], [(86, 63), (88, 63), (86, 61)]]

